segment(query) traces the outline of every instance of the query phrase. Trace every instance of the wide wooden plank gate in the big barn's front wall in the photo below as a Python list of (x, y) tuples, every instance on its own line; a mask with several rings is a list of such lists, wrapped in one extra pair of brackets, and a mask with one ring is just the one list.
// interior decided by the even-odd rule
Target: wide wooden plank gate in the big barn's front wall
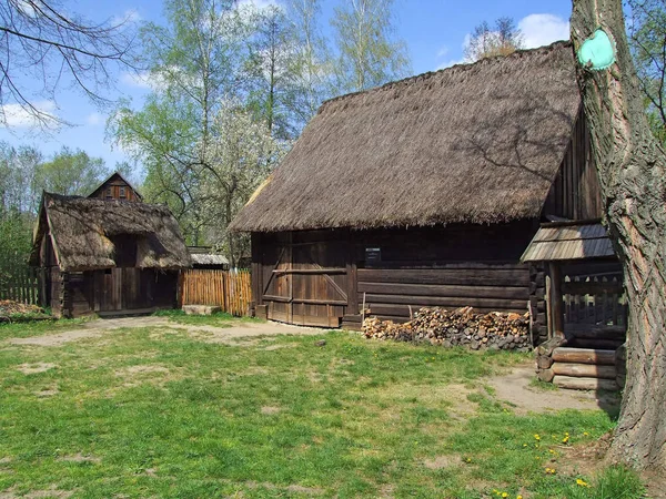
[[(346, 246), (340, 241), (306, 241), (289, 234), (271, 245), (264, 261), (263, 303), (272, 320), (302, 326), (340, 327), (347, 306)], [(266, 255), (269, 258), (270, 256)]]

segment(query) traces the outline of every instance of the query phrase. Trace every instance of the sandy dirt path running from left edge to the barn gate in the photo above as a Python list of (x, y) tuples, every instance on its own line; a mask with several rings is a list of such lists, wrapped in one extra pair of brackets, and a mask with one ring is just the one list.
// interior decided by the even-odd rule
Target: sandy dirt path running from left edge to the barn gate
[(44, 347), (58, 347), (70, 342), (97, 338), (113, 329), (133, 327), (155, 327), (185, 330), (188, 334), (209, 343), (223, 343), (228, 345), (249, 345), (245, 338), (259, 338), (262, 336), (300, 335), (316, 336), (325, 334), (326, 329), (306, 328), (283, 325), (278, 323), (239, 323), (232, 327), (193, 326), (171, 322), (168, 317), (122, 317), (109, 319), (95, 319), (85, 323), (83, 327), (64, 330), (53, 335), (32, 336), (27, 338), (9, 338), (7, 343), (12, 345), (34, 345)]

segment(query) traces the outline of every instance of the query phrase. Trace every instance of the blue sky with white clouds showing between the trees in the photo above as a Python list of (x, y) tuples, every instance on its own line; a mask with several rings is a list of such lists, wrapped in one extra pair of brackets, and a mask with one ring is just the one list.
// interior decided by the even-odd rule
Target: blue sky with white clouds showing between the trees
[[(258, 7), (280, 3), (281, 0), (242, 0)], [(323, 0), (322, 30), (329, 32), (329, 19), (341, 0)], [(405, 41), (412, 73), (436, 71), (463, 62), (465, 39), (481, 22), (493, 23), (500, 17), (513, 18), (523, 32), (526, 48), (568, 39), (571, 0), (394, 0), (396, 35)], [(163, 23), (161, 0), (79, 0), (64, 2), (90, 21), (131, 17), (137, 22)], [(109, 99), (130, 99), (140, 109), (150, 91), (145, 82), (129, 73), (115, 74), (115, 90)], [(27, 82), (28, 84), (28, 82)], [(102, 157), (109, 167), (129, 160), (105, 133), (108, 110), (98, 109), (81, 92), (63, 86), (56, 101), (39, 101), (43, 110), (54, 113), (73, 126), (44, 134), (21, 113), (10, 116), (10, 128), (0, 129), (0, 141), (11, 145), (36, 145), (47, 156), (62, 146), (81, 149), (89, 155)], [(135, 172), (141, 176), (140, 165)]]

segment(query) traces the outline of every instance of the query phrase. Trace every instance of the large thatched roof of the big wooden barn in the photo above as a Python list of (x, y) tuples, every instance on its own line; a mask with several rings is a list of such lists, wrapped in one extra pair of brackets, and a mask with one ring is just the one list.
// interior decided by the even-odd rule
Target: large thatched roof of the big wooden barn
[(333, 99), (231, 228), (537, 217), (579, 105), (567, 42)]

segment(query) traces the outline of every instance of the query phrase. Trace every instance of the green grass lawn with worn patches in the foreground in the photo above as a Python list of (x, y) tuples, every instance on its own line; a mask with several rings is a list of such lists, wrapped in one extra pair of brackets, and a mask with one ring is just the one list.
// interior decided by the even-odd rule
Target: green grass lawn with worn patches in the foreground
[(0, 326), (2, 498), (623, 497), (563, 457), (613, 428), (604, 411), (518, 416), (485, 387), (525, 354), (169, 326), (7, 340), (79, 326)]

